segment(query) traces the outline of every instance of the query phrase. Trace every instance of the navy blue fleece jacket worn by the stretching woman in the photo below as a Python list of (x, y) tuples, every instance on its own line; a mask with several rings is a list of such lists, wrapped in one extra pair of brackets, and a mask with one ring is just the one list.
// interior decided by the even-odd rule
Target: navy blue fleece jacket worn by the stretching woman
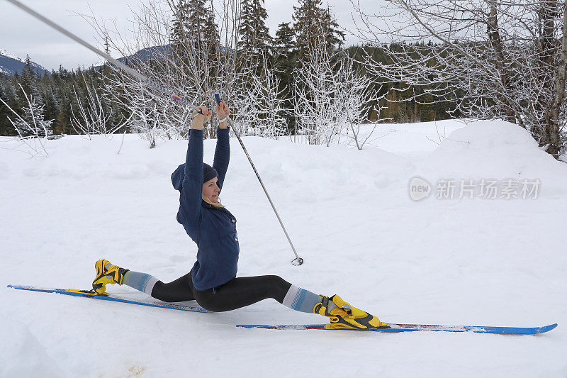
[[(218, 172), (218, 187), (222, 190), (230, 143), (228, 129), (217, 130), (217, 147), (213, 168)], [(236, 218), (225, 208), (215, 208), (201, 198), (203, 191), (203, 130), (191, 129), (185, 164), (172, 174), (172, 184), (179, 190), (177, 221), (197, 243), (197, 261), (191, 270), (197, 290), (218, 287), (236, 277), (238, 236)]]

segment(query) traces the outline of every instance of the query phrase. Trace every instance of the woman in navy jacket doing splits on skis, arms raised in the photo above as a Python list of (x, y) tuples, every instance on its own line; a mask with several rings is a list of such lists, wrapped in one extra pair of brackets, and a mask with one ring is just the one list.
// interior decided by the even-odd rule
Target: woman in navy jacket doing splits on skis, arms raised
[(203, 163), (203, 124), (212, 112), (201, 106), (193, 113), (186, 162), (172, 174), (179, 190), (177, 221), (197, 244), (197, 261), (188, 274), (164, 284), (150, 274), (132, 272), (107, 260), (95, 264), (93, 288), (106, 291), (106, 284), (125, 284), (161, 301), (196, 300), (209, 311), (230, 311), (272, 298), (296, 311), (318, 313), (330, 318), (327, 328), (365, 330), (386, 326), (378, 318), (345, 303), (339, 296), (320, 296), (286, 282), (278, 276), (236, 278), (239, 254), (236, 218), (218, 199), (230, 159), (227, 116), (224, 102), (215, 106), (219, 117), (213, 167)]

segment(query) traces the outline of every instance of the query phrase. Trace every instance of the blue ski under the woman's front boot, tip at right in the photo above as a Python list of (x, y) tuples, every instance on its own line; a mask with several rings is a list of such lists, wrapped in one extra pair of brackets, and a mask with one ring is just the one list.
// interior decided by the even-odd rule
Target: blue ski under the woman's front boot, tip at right
[[(544, 327), (492, 327), (492, 326), (435, 326), (428, 324), (395, 324), (388, 323), (388, 328), (374, 328), (376, 332), (408, 332), (415, 330), (435, 330), (446, 332), (475, 332), (475, 333), (500, 333), (508, 335), (536, 335), (548, 332), (556, 328), (557, 323)], [(325, 324), (239, 324), (243, 328), (266, 328), (275, 330), (328, 330)]]

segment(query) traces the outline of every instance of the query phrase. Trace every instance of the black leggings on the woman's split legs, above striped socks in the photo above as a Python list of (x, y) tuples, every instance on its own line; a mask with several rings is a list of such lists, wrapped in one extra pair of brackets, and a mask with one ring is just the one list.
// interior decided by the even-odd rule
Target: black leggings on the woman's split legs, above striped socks
[(196, 300), (208, 311), (222, 312), (249, 306), (263, 299), (283, 302), (291, 284), (279, 276), (233, 278), (214, 289), (197, 290), (193, 287), (191, 272), (169, 284), (156, 282), (152, 289), (155, 299), (166, 302)]

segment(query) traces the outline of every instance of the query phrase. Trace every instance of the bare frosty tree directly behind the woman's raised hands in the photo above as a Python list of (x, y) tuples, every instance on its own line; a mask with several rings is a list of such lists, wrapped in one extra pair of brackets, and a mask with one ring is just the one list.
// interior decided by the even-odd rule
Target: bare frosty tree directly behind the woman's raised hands
[[(172, 0), (168, 4), (169, 9), (154, 3), (143, 4), (134, 14), (133, 38), (125, 44), (115, 30), (110, 31), (92, 18), (87, 19), (98, 30), (100, 38), (108, 41), (111, 50), (131, 57), (128, 60), (130, 67), (167, 92), (171, 91), (192, 104), (206, 104), (211, 108), (214, 106), (213, 93), (222, 83), (223, 96), (232, 101), (241, 93), (237, 82), (242, 76), (236, 67), (237, 28), (232, 23), (238, 19), (237, 0), (226, 0), (216, 11), (210, 8), (210, 2), (202, 0)], [(214, 17), (218, 18), (218, 25)], [(197, 28), (200, 32), (194, 33)], [(147, 59), (135, 54), (147, 46), (156, 46), (145, 50)], [(103, 99), (122, 109), (127, 118), (131, 116), (129, 130), (150, 140), (150, 146), (155, 145), (157, 138), (186, 138), (191, 123), (189, 106), (181, 106), (167, 94), (140, 83), (121, 70), (108, 68)], [(231, 110), (237, 111), (232, 107)], [(215, 122), (205, 126), (206, 138), (215, 137)]]

